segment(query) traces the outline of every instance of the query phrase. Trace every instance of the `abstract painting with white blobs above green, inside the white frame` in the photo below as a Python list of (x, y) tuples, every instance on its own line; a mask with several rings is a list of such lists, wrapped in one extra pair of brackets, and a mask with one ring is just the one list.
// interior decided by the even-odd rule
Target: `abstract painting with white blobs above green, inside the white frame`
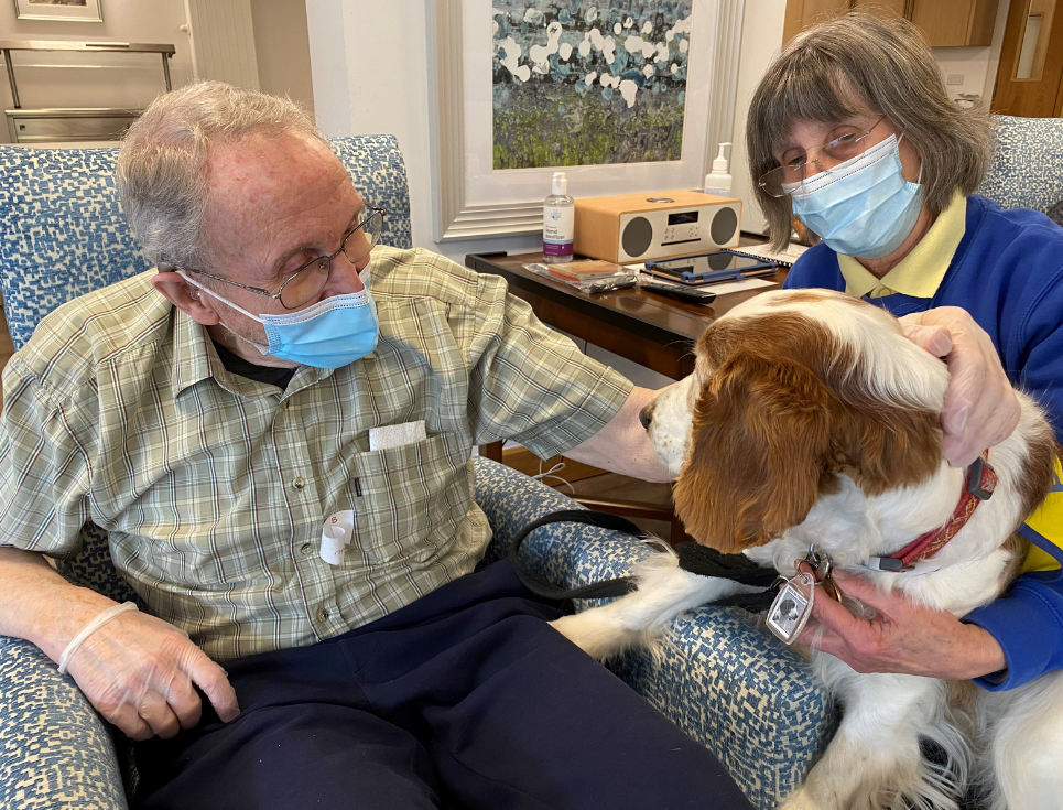
[(680, 160), (692, 0), (492, 0), (493, 168)]

